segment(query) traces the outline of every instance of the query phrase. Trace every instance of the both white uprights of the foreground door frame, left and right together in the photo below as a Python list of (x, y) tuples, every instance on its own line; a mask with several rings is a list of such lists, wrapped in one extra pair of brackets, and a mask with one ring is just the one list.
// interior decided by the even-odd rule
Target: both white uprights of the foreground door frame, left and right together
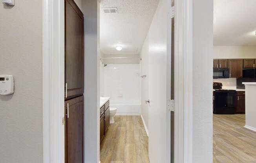
[[(43, 0), (43, 158), (64, 162), (64, 1)], [(192, 163), (193, 2), (175, 0), (175, 163)]]

